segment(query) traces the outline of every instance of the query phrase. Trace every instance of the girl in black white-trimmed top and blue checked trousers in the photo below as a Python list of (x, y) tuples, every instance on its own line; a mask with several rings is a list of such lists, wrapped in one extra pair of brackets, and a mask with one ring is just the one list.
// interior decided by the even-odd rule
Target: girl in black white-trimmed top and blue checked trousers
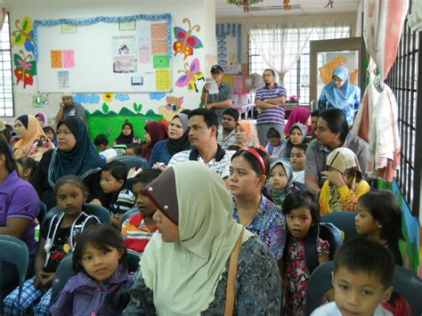
[(54, 272), (61, 259), (75, 246), (77, 236), (89, 225), (100, 223), (84, 212), (85, 183), (77, 175), (61, 177), (54, 188), (57, 205), (63, 211), (41, 225), (35, 277), (23, 284), (18, 305), (19, 288), (4, 298), (4, 315), (21, 314), (34, 306), (36, 315), (49, 315)]

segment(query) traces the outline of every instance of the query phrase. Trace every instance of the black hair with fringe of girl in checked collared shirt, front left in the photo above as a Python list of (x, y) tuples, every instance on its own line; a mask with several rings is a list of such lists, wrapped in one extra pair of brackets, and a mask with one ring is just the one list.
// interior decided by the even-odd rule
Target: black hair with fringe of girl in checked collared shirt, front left
[(78, 272), (85, 272), (82, 265), (83, 255), (86, 246), (92, 246), (98, 250), (109, 251), (111, 248), (116, 248), (123, 252), (119, 263), (127, 269), (127, 249), (123, 242), (120, 232), (106, 223), (94, 224), (82, 231), (77, 236), (77, 244), (73, 250), (72, 264), (73, 269)]

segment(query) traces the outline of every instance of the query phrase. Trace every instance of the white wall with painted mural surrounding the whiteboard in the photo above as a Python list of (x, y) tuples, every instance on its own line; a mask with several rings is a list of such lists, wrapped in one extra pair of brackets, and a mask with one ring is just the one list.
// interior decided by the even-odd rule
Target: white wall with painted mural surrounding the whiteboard
[[(180, 109), (195, 109), (199, 107), (200, 92), (203, 86), (203, 81), (197, 81), (199, 92), (188, 91), (187, 87), (175, 86), (175, 81), (178, 77), (183, 74), (179, 73), (178, 70), (184, 69), (184, 63), (193, 61), (195, 58), (199, 59), (200, 70), (202, 70), (207, 76), (207, 61), (211, 61), (210, 56), (216, 54), (216, 43), (215, 43), (215, 0), (160, 0), (159, 5), (156, 0), (11, 0), (7, 4), (8, 11), (10, 13), (10, 24), (11, 31), (17, 30), (15, 21), (22, 21), (28, 16), (29, 20), (56, 20), (56, 19), (86, 19), (97, 16), (126, 16), (134, 14), (160, 14), (160, 13), (171, 13), (172, 14), (172, 36), (173, 42), (176, 40), (173, 34), (174, 27), (188, 28), (186, 23), (183, 23), (183, 19), (187, 18), (191, 20), (191, 25), (198, 24), (200, 27), (199, 31), (194, 30), (192, 35), (198, 36), (202, 41), (203, 47), (194, 49), (192, 56), (189, 56), (186, 60), (183, 60), (183, 54), (177, 54), (172, 56), (172, 82), (173, 89), (168, 93), (123, 93), (126, 94), (123, 97), (116, 98), (113, 91), (102, 91), (101, 93), (95, 92), (93, 95), (89, 93), (78, 94), (77, 91), (71, 91), (77, 96), (77, 100), (81, 101), (85, 109), (90, 114), (101, 114), (102, 117), (98, 117), (98, 122), (102, 126), (102, 129), (106, 129), (109, 134), (117, 134), (121, 128), (123, 120), (120, 117), (121, 122), (118, 122), (118, 126), (110, 126), (104, 118), (109, 119), (113, 115), (105, 115), (105, 112), (118, 113), (121, 109), (126, 108), (131, 111), (134, 115), (134, 103), (138, 109), (138, 127), (142, 130), (145, 119), (162, 119), (168, 121), (174, 115), (171, 110), (166, 109), (167, 97), (172, 104), (177, 104)], [(83, 27), (80, 27), (83, 28)], [(11, 36), (11, 39), (13, 36)], [(53, 41), (54, 39), (52, 39)], [(77, 49), (77, 47), (75, 47)], [(12, 59), (13, 54), (20, 53), (23, 51), (25, 55), (28, 55), (25, 46), (14, 46), (12, 47)], [(172, 47), (172, 53), (173, 47)], [(32, 54), (33, 56), (33, 54)], [(30, 59), (29, 59), (30, 60)], [(28, 61), (29, 61), (28, 60)], [(77, 62), (77, 61), (76, 61)], [(208, 62), (209, 63), (209, 62)], [(13, 66), (13, 70), (15, 67)], [(88, 71), (89, 69), (87, 69)], [(86, 80), (90, 80), (89, 76)], [(36, 114), (38, 111), (45, 112), (50, 120), (53, 120), (57, 110), (59, 109), (59, 103), (61, 101), (61, 93), (45, 93), (38, 95), (38, 80), (43, 80), (42, 77), (34, 76), (34, 82), (32, 85), (26, 85), (23, 87), (22, 82), (16, 85), (16, 77), (13, 77), (13, 94), (15, 104), (15, 117), (19, 117), (22, 114)], [(69, 87), (71, 90), (71, 87)], [(110, 93), (107, 95), (106, 93)], [(35, 108), (33, 98), (40, 96), (41, 99), (44, 97), (47, 102), (44, 108)], [(125, 100), (126, 99), (126, 100)], [(104, 108), (104, 103), (107, 104), (107, 108)], [(142, 107), (140, 105), (142, 104)], [(107, 110), (105, 110), (107, 109)], [(127, 113), (127, 112), (126, 112)], [(139, 120), (139, 117), (143, 117)], [(10, 119), (7, 119), (10, 121)], [(88, 119), (89, 122), (89, 119)], [(113, 124), (116, 123), (116, 119)], [(135, 122), (136, 123), (136, 122)], [(141, 125), (141, 126), (140, 126)], [(135, 124), (136, 126), (136, 124)], [(91, 126), (90, 126), (91, 127)], [(109, 129), (112, 129), (111, 131)], [(98, 131), (90, 131), (91, 134), (97, 133)], [(106, 132), (106, 131), (104, 131)], [(137, 131), (135, 130), (135, 133)], [(141, 131), (136, 134), (143, 134)]]

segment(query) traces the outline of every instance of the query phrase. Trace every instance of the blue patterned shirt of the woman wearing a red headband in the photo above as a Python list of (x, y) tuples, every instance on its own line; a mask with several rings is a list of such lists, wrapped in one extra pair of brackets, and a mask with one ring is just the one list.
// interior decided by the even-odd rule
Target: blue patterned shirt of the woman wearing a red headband
[[(234, 198), (231, 216), (239, 223), (238, 207)], [(286, 244), (286, 219), (277, 206), (264, 197), (264, 194), (261, 194), (258, 212), (246, 228), (267, 245), (276, 260), (280, 260)]]

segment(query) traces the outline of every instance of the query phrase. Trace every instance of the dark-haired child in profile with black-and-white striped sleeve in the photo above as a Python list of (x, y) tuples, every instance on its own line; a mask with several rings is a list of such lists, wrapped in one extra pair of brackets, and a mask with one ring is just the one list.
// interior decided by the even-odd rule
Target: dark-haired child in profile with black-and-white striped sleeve
[(134, 193), (125, 189), (126, 180), (126, 165), (116, 160), (109, 162), (102, 168), (100, 181), (101, 189), (109, 195), (109, 202), (107, 205), (102, 205), (99, 199), (91, 201), (91, 204), (110, 210), (111, 225), (116, 228), (122, 215), (134, 207)]

